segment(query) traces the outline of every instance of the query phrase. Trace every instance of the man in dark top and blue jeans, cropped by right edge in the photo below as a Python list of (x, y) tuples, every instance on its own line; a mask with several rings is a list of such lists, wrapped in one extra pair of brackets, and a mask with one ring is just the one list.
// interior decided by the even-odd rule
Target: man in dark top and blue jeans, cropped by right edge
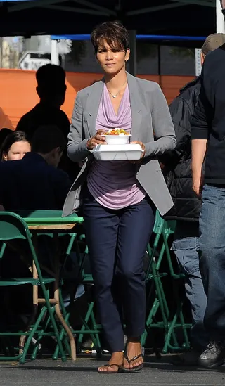
[[(225, 1), (221, 4), (225, 8)], [(207, 296), (204, 324), (210, 337), (199, 363), (207, 368), (224, 364), (225, 355), (224, 63), (225, 44), (205, 58), (191, 124), (193, 191), (203, 200), (199, 220), (200, 271)]]

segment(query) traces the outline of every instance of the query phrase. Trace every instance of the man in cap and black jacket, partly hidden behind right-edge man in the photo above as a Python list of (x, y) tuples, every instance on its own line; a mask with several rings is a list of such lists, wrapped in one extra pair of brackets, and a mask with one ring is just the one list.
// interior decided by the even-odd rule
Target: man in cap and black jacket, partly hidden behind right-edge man
[[(205, 56), (225, 43), (224, 34), (212, 34), (202, 47), (202, 64)], [(174, 207), (165, 219), (175, 219), (176, 232), (172, 250), (186, 275), (186, 297), (191, 302), (193, 327), (191, 352), (176, 356), (174, 364), (195, 365), (209, 342), (203, 320), (207, 304), (198, 261), (198, 219), (201, 200), (192, 188), (191, 173), (191, 120), (200, 93), (200, 77), (181, 89), (179, 96), (169, 106), (176, 132), (175, 150), (161, 160), (165, 178), (174, 200)]]

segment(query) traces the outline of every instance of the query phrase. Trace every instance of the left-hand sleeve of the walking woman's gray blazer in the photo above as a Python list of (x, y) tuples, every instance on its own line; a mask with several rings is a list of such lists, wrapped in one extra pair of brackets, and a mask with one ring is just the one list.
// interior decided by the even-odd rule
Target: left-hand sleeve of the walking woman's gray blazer
[(72, 111), (72, 124), (70, 125), (70, 132), (68, 134), (68, 157), (70, 160), (79, 162), (90, 154), (86, 148), (88, 140), (87, 138), (84, 139), (83, 106), (78, 93), (75, 107)]

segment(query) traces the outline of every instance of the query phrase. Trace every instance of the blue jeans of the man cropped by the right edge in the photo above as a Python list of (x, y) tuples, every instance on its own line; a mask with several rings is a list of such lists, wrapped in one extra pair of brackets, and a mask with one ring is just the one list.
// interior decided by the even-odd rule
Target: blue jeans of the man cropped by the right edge
[(200, 214), (200, 271), (210, 340), (225, 340), (225, 185), (205, 185)]

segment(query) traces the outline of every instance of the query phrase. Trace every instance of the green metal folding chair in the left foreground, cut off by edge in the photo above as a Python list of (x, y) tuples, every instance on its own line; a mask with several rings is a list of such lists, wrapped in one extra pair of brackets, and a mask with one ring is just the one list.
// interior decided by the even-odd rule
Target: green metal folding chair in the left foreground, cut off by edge
[[(0, 278), (0, 287), (11, 287), (15, 285), (25, 284), (30, 284), (32, 286), (37, 285), (38, 288), (40, 288), (42, 291), (42, 296), (44, 297), (44, 304), (41, 304), (41, 306), (39, 307), (40, 309), (37, 319), (30, 326), (29, 330), (20, 330), (17, 332), (4, 330), (4, 332), (0, 332), (0, 339), (3, 338), (3, 340), (6, 340), (6, 338), (12, 336), (27, 337), (27, 340), (25, 341), (25, 345), (23, 347), (23, 352), (19, 352), (19, 354), (15, 356), (0, 356), (0, 360), (20, 360), (20, 364), (24, 364), (25, 358), (27, 356), (27, 351), (30, 347), (32, 339), (35, 338), (37, 340), (39, 338), (39, 334), (43, 335), (43, 328), (41, 328), (41, 322), (43, 319), (46, 318), (46, 316), (49, 316), (49, 319), (51, 320), (51, 326), (53, 328), (53, 335), (56, 337), (56, 341), (60, 350), (61, 359), (62, 361), (66, 361), (66, 356), (63, 350), (62, 342), (60, 340), (56, 319), (54, 318), (53, 314), (54, 304), (51, 304), (49, 301), (49, 286), (46, 287), (46, 285), (53, 283), (55, 279), (43, 278), (39, 266), (39, 261), (34, 250), (34, 245), (32, 244), (32, 235), (24, 219), (13, 212), (0, 212), (0, 241), (1, 243), (3, 243), (1, 251), (2, 248), (4, 248), (5, 250), (5, 245), (7, 245), (7, 243), (15, 242), (16, 240), (23, 240), (23, 242), (25, 243), (25, 246), (27, 247), (30, 253), (30, 257), (32, 258), (32, 262), (34, 262), (34, 266), (37, 269), (38, 278)], [(4, 251), (0, 253), (0, 257), (4, 258)], [(11, 351), (12, 350), (9, 347), (9, 352)], [(7, 352), (7, 347), (5, 349), (5, 352)]]

